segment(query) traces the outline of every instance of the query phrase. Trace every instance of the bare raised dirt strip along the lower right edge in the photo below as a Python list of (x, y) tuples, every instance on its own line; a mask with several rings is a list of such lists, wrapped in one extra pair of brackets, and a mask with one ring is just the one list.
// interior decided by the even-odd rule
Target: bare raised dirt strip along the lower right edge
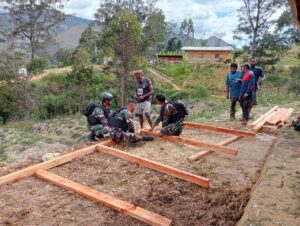
[(239, 226), (299, 225), (300, 133), (284, 128)]

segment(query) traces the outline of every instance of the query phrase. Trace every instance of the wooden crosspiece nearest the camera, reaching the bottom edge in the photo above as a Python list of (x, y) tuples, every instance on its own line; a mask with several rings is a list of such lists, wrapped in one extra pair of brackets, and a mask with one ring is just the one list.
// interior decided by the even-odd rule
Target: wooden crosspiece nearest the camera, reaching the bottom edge
[(35, 175), (47, 182), (55, 184), (66, 190), (76, 192), (92, 201), (95, 201), (104, 206), (117, 210), (123, 214), (127, 214), (149, 225), (161, 225), (161, 226), (171, 225), (172, 221), (168, 218), (165, 218), (161, 215), (158, 215), (156, 213), (153, 213), (141, 207), (134, 206), (128, 202), (117, 199), (113, 196), (96, 191), (90, 187), (65, 179), (56, 174), (47, 172), (45, 170), (37, 170), (35, 172)]

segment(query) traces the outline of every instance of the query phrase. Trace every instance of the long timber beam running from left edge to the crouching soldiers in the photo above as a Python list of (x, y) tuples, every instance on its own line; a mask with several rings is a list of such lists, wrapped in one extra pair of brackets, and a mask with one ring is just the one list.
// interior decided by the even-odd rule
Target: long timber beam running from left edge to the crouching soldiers
[[(113, 146), (113, 145), (116, 144), (116, 142), (112, 141), (112, 140), (109, 140), (109, 141), (103, 142), (102, 144), (107, 145), (107, 146)], [(8, 175), (2, 176), (2, 177), (0, 177), (0, 186), (18, 181), (18, 180), (23, 179), (25, 177), (32, 176), (32, 175), (34, 175), (35, 171), (37, 171), (39, 169), (44, 169), (44, 170), (51, 169), (53, 167), (56, 167), (56, 166), (65, 164), (67, 162), (70, 162), (73, 159), (80, 158), (82, 156), (88, 155), (88, 154), (95, 151), (96, 146), (97, 145), (86, 147), (84, 149), (80, 149), (80, 150), (77, 150), (77, 151), (59, 156), (55, 159), (51, 159), (49, 161), (42, 162), (42, 163), (39, 163), (37, 165), (29, 166), (29, 167), (27, 167), (25, 169), (22, 169), (22, 170), (19, 170), (17, 172), (10, 173)]]

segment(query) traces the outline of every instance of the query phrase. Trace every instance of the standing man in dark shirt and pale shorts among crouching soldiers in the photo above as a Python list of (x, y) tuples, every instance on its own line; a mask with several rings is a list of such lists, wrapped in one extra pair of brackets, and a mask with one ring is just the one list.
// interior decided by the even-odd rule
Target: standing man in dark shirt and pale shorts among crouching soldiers
[(152, 101), (152, 93), (153, 87), (150, 79), (144, 76), (142, 70), (136, 70), (133, 72), (136, 82), (135, 82), (135, 100), (137, 101), (136, 106), (136, 117), (140, 119), (141, 129), (144, 128), (144, 114), (146, 119), (150, 125), (153, 127), (153, 122), (151, 120), (151, 101)]

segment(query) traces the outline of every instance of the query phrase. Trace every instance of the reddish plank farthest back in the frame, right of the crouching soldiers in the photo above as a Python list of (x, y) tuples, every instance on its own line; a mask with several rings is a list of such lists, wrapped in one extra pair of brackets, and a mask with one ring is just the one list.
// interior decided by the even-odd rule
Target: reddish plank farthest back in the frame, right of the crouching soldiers
[(184, 125), (189, 128), (194, 129), (203, 129), (203, 130), (209, 130), (217, 133), (226, 133), (226, 134), (232, 134), (239, 137), (255, 137), (255, 133), (253, 132), (247, 132), (242, 130), (234, 130), (234, 129), (228, 129), (228, 128), (222, 128), (222, 127), (215, 127), (210, 125), (204, 125), (194, 122), (184, 122)]

